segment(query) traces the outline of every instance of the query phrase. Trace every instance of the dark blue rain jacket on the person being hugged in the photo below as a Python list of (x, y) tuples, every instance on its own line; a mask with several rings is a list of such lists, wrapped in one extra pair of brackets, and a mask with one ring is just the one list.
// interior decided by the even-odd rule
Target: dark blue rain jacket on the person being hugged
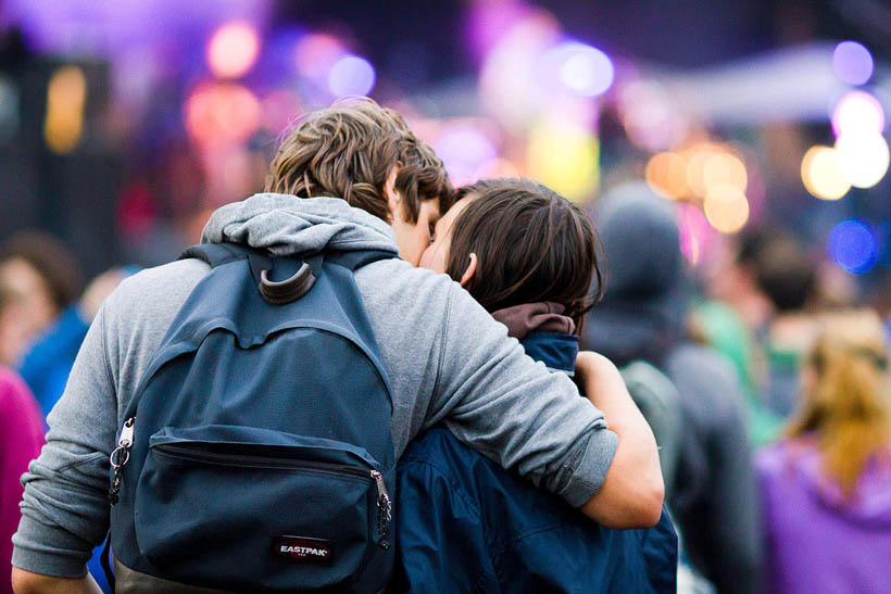
[[(531, 332), (534, 358), (572, 372), (570, 334)], [(435, 427), (397, 469), (397, 592), (676, 592), (678, 542), (610, 530)]]

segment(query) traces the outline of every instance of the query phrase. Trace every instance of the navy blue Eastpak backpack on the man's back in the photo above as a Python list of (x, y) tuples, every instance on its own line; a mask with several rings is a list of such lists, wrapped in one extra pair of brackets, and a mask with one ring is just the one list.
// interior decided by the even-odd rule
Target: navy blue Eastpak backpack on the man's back
[(205, 244), (183, 257), (213, 269), (141, 378), (112, 454), (118, 587), (381, 590), (392, 402), (353, 271), (394, 254)]

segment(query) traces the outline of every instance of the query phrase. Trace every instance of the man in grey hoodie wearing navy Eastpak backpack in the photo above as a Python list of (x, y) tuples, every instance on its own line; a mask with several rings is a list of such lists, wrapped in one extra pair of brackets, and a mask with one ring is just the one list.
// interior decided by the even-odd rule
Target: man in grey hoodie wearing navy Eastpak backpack
[[(413, 268), (451, 186), (398, 114), (369, 101), (316, 112), (266, 189), (284, 193), (211, 217), (203, 241), (228, 254), (189, 252), (105, 302), (23, 479), (17, 592), (90, 591), (109, 498), (120, 591), (322, 585), (308, 574), (376, 590), (391, 563), (393, 460), (439, 421), (593, 519), (658, 517), (662, 478), (628, 463), (640, 444), (617, 453), (568, 378), (536, 366), (456, 283)], [(331, 357), (344, 342), (353, 357)], [(293, 493), (266, 498), (283, 477)]]

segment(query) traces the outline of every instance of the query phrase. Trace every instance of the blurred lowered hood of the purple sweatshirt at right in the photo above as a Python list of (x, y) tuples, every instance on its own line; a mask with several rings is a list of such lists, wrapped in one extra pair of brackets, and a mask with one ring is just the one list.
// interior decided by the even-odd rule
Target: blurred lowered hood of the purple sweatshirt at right
[[(770, 450), (774, 450), (770, 455)], [(820, 454), (811, 440), (782, 442), (765, 454), (774, 464), (785, 464), (786, 471), (795, 473), (801, 485), (824, 506), (836, 510), (849, 521), (873, 528), (891, 528), (891, 464), (889, 456), (874, 458), (857, 483), (856, 496), (845, 498), (841, 488), (827, 480)], [(888, 454), (891, 454), (889, 452)], [(767, 464), (770, 464), (767, 460)]]

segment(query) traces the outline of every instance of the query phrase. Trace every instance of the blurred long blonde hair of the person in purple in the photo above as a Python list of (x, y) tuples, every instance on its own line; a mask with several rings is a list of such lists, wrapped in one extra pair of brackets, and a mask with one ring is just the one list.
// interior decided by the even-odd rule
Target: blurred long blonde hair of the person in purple
[(867, 463), (891, 446), (888, 349), (878, 315), (828, 315), (808, 364), (816, 382), (787, 435), (816, 437), (825, 472), (851, 497)]

